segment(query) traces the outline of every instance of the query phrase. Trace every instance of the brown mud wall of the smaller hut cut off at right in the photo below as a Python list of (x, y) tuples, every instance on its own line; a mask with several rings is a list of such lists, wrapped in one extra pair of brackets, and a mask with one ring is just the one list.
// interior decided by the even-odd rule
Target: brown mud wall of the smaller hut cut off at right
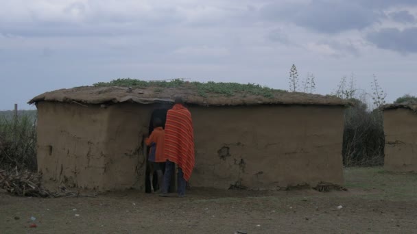
[(417, 104), (383, 107), (385, 169), (417, 172)]

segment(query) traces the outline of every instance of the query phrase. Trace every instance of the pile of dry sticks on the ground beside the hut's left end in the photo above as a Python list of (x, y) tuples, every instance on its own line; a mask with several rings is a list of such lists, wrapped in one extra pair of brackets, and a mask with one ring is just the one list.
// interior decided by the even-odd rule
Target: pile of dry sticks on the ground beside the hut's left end
[(70, 192), (62, 190), (61, 192), (51, 192), (41, 185), (41, 175), (25, 170), (19, 172), (14, 170), (0, 170), (0, 189), (16, 196), (34, 196), (42, 198), (59, 198), (59, 197), (78, 197), (86, 196), (80, 192)]

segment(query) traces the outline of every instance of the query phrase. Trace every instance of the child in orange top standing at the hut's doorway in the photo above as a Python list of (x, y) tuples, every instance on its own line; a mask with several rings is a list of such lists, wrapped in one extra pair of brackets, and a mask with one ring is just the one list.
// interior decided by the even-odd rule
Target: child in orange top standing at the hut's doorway
[(163, 129), (163, 122), (160, 118), (154, 119), (154, 131), (152, 131), (149, 138), (145, 139), (145, 143), (147, 146), (151, 146), (149, 157), (147, 159), (148, 165), (150, 167), (150, 183), (151, 183), (151, 191), (154, 192), (154, 185), (153, 185), (153, 177), (154, 172), (158, 174), (158, 185), (162, 187), (162, 166), (165, 164), (164, 156), (164, 129)]

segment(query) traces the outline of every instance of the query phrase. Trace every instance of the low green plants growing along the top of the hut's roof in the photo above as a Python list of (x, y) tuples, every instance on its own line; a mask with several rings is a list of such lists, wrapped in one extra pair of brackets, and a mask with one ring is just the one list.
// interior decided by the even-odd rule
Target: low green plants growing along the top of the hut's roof
[[(172, 79), (170, 81), (142, 81), (139, 79), (115, 79), (110, 82), (99, 82), (94, 83), (96, 87), (107, 87), (107, 86), (122, 86), (132, 88), (147, 88), (147, 87), (158, 87), (158, 88), (195, 88), (198, 95), (206, 96), (208, 93), (222, 94), (225, 96), (234, 96), (237, 93), (252, 94), (255, 96), (264, 96), (266, 98), (273, 98), (274, 92), (287, 92), (285, 90), (274, 90), (265, 86), (260, 86), (254, 83), (224, 83), (224, 82), (213, 82), (208, 81), (202, 83), (198, 81), (188, 82), (183, 79)], [(190, 87), (191, 86), (191, 87)]]

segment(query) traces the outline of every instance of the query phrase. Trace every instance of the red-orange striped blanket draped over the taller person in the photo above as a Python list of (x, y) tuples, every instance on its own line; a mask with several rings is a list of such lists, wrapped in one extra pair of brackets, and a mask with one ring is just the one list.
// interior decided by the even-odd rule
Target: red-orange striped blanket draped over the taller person
[(173, 161), (189, 181), (194, 168), (194, 133), (191, 113), (181, 104), (167, 112), (165, 123), (165, 158)]

